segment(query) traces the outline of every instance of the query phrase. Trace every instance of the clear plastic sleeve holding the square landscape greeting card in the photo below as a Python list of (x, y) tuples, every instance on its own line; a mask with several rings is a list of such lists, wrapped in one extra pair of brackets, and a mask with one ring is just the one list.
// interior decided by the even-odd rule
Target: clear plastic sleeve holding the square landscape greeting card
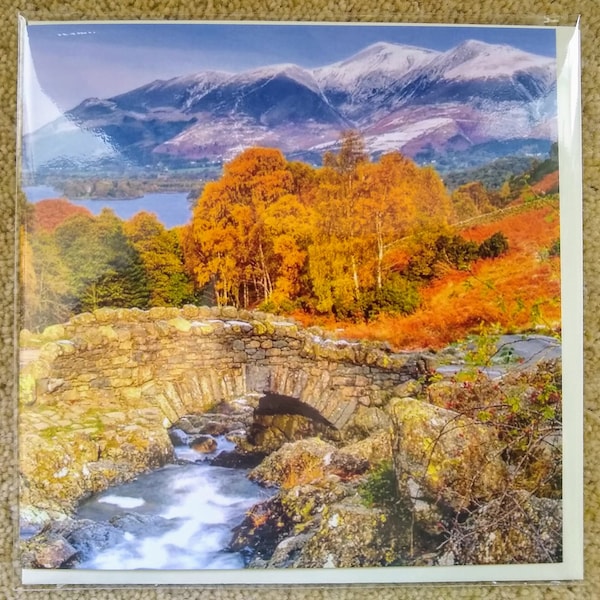
[(579, 20), (209, 16), (19, 17), (22, 584), (582, 579)]

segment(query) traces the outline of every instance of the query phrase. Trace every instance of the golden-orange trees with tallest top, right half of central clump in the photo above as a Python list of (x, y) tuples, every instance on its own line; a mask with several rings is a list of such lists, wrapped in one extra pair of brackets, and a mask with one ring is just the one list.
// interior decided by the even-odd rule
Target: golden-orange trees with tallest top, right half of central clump
[(371, 162), (360, 137), (350, 133), (337, 155), (324, 158), (315, 212), (309, 252), (317, 309), (356, 316), (367, 306), (373, 312), (379, 301), (389, 305), (401, 290), (412, 290), (396, 277), (383, 293), (391, 274), (386, 254), (420, 229), (445, 226), (452, 206), (433, 169), (420, 168), (399, 153)]

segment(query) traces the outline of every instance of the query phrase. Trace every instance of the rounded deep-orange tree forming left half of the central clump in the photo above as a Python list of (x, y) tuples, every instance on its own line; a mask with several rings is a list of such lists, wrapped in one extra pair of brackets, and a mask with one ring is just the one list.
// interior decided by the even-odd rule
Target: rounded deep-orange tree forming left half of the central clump
[[(205, 186), (191, 224), (197, 284), (213, 283), (219, 304), (269, 300), (281, 268), (265, 229), (268, 209), (293, 192), (294, 178), (279, 150), (250, 148)], [(293, 194), (292, 194), (293, 195)], [(274, 210), (274, 209), (272, 209)]]

